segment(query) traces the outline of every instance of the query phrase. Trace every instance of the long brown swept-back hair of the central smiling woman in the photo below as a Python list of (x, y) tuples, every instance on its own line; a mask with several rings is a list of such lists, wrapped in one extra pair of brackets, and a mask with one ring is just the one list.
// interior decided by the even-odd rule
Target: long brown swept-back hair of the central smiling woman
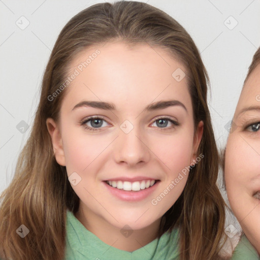
[[(68, 77), (72, 57), (90, 46), (122, 40), (165, 48), (188, 70), (194, 125), (204, 122), (198, 154), (204, 158), (190, 170), (186, 186), (161, 222), (161, 234), (178, 227), (180, 259), (220, 259), (224, 201), (216, 186), (219, 157), (207, 106), (208, 75), (187, 31), (165, 12), (140, 2), (93, 5), (75, 15), (61, 30), (51, 52), (41, 88), (40, 103), (15, 176), (1, 196), (0, 253), (5, 259), (64, 257), (66, 210), (74, 213), (79, 198), (68, 181), (66, 167), (55, 160), (46, 119), (59, 120), (67, 89), (48, 99)], [(25, 238), (16, 234), (24, 224)]]

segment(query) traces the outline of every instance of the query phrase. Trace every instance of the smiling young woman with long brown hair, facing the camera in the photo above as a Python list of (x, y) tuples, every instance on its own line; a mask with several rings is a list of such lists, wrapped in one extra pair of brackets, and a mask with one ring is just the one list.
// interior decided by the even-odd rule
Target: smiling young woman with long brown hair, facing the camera
[(185, 29), (150, 5), (74, 16), (1, 197), (2, 259), (222, 259), (207, 81)]

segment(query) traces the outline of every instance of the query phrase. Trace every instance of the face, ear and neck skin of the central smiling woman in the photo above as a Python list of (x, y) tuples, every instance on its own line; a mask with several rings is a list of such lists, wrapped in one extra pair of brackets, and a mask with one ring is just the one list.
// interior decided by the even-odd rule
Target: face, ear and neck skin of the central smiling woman
[[(77, 55), (70, 70), (74, 71), (96, 48)], [(203, 122), (194, 134), (187, 77), (180, 82), (172, 77), (177, 68), (186, 69), (165, 50), (147, 44), (129, 47), (120, 41), (99, 46), (99, 50), (101, 54), (66, 89), (60, 121), (48, 118), (46, 123), (57, 163), (66, 166), (68, 176), (77, 172), (81, 177), (76, 186), (72, 185), (80, 198), (77, 219), (103, 242), (134, 251), (157, 237), (161, 217), (184, 189), (188, 175), (156, 206), (151, 204), (198, 156)], [(73, 110), (85, 100), (114, 103), (116, 110), (86, 106)], [(177, 100), (186, 109), (175, 105), (144, 111), (147, 105), (166, 100)], [(80, 122), (95, 115), (105, 121), (97, 131), (90, 132)], [(169, 116), (179, 125), (166, 120), (162, 127), (156, 124), (158, 116)], [(125, 120), (134, 126), (128, 134), (120, 128)], [(90, 121), (85, 125), (94, 128)], [(151, 177), (159, 183), (141, 201), (122, 201), (103, 182), (122, 176)], [(129, 237), (120, 233), (126, 224), (133, 230)]]

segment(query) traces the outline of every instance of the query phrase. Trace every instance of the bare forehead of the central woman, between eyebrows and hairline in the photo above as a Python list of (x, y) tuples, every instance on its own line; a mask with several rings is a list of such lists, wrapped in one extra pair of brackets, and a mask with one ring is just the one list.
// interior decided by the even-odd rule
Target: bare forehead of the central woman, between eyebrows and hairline
[[(93, 55), (96, 50), (99, 54)], [(79, 73), (68, 87), (71, 103), (84, 97), (113, 100), (121, 105), (151, 103), (170, 97), (191, 103), (184, 64), (166, 49), (146, 43), (132, 46), (113, 42), (93, 46), (74, 57), (68, 74), (75, 70)]]

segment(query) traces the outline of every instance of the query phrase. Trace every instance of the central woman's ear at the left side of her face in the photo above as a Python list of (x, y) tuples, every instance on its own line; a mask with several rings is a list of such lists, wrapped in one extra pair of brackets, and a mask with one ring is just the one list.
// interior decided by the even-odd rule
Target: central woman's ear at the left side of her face
[(48, 132), (51, 136), (52, 147), (56, 161), (59, 165), (66, 166), (65, 155), (58, 124), (56, 124), (52, 118), (47, 118), (46, 124)]

